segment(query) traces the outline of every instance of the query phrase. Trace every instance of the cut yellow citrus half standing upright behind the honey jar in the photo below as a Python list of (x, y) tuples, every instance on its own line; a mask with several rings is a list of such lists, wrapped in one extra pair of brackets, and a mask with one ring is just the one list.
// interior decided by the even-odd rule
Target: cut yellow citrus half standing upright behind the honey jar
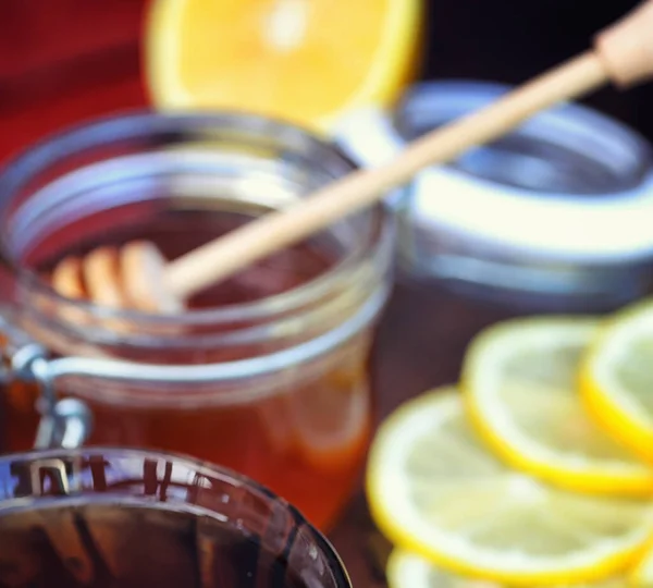
[(324, 130), (412, 78), (421, 0), (156, 0), (147, 79), (163, 109), (236, 109)]

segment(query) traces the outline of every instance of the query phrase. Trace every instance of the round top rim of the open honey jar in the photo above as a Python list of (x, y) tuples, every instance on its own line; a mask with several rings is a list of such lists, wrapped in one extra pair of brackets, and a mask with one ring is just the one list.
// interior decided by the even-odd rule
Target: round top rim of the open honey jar
[[(149, 109), (130, 109), (114, 114), (97, 117), (50, 133), (32, 146), (24, 148), (17, 155), (9, 159), (0, 172), (0, 216), (7, 213), (11, 205), (12, 195), (20, 188), (23, 182), (34, 173), (45, 171), (49, 166), (59, 160), (57, 154), (65, 152), (66, 146), (75, 142), (86, 142), (87, 147), (98, 147), (100, 143), (97, 135), (108, 133), (110, 140), (145, 137), (163, 131), (174, 128), (247, 128), (251, 133), (270, 133), (279, 137), (306, 142), (309, 148), (318, 154), (336, 158), (348, 172), (359, 169), (358, 164), (334, 142), (297, 124), (286, 121), (251, 114), (238, 111), (214, 111), (214, 112), (173, 112), (161, 113)], [(261, 135), (262, 136), (262, 135)], [(279, 139), (283, 140), (283, 139)], [(74, 152), (79, 152), (81, 149)], [(210, 322), (220, 324), (223, 322), (238, 321), (244, 319), (259, 319), (274, 316), (282, 311), (300, 308), (307, 304), (320, 299), (328, 294), (330, 284), (337, 283), (346, 277), (347, 272), (360, 264), (370, 250), (377, 246), (386, 244), (390, 237), (390, 215), (382, 204), (366, 209), (366, 212), (374, 213), (378, 218), (378, 234), (371, 234), (367, 243), (350, 249), (343, 259), (335, 262), (315, 279), (293, 287), (288, 291), (274, 294), (261, 299), (234, 303), (219, 308), (186, 309), (173, 316), (155, 315), (133, 309), (113, 309), (99, 307), (87, 301), (71, 299), (57, 293), (49, 284), (45, 283), (36, 271), (23, 267), (11, 254), (11, 246), (7, 242), (7, 235), (0, 231), (0, 260), (9, 268), (10, 272), (22, 280), (29, 289), (39, 296), (52, 301), (57, 305), (66, 306), (99, 318), (115, 318), (127, 320), (133, 323), (158, 327), (169, 324), (201, 324)], [(374, 233), (374, 231), (371, 231)]]

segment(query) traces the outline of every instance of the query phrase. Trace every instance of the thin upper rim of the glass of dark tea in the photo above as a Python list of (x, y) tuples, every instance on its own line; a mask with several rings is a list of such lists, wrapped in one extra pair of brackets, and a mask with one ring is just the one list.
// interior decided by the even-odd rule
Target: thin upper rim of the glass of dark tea
[[(182, 453), (171, 452), (171, 451), (159, 451), (159, 450), (147, 450), (140, 448), (118, 448), (118, 446), (102, 446), (102, 445), (94, 445), (94, 446), (83, 446), (76, 449), (44, 449), (44, 450), (28, 450), (25, 452), (17, 453), (8, 453), (0, 455), (0, 469), (3, 469), (2, 466), (9, 466), (16, 462), (21, 464), (32, 464), (38, 463), (42, 461), (47, 463), (52, 460), (75, 460), (75, 458), (90, 458), (90, 457), (120, 457), (127, 458), (134, 461), (144, 461), (147, 458), (157, 458), (157, 460), (167, 460), (174, 464), (180, 464), (187, 469), (190, 469), (198, 474), (212, 475), (221, 480), (225, 480), (234, 486), (238, 486), (241, 488), (246, 488), (248, 491), (254, 493), (261, 494), (266, 500), (272, 501), (282, 507), (288, 516), (294, 522), (297, 527), (306, 527), (311, 531), (311, 539), (315, 541), (317, 549), (322, 553), (325, 561), (328, 562), (331, 572), (334, 575), (334, 580), (336, 581), (336, 588), (350, 588), (350, 580), (345, 568), (344, 562), (338, 555), (335, 548), (331, 544), (329, 539), (318, 529), (316, 528), (298, 510), (296, 506), (291, 504), (285, 499), (281, 498), (279, 494), (261, 485), (260, 482), (241, 474), (234, 469), (229, 467), (224, 467), (218, 464), (212, 464), (210, 462), (205, 462), (193, 457), (190, 455), (185, 455)], [(110, 494), (110, 492), (109, 492)], [(101, 495), (101, 493), (99, 493)], [(39, 498), (39, 497), (35, 497)], [(57, 506), (58, 503), (64, 505), (69, 502), (70, 499), (74, 499), (74, 494), (63, 495), (63, 497), (44, 497), (44, 501), (47, 502), (48, 507)], [(7, 500), (7, 499), (4, 499)], [(0, 499), (0, 505), (2, 505), (3, 500)], [(78, 502), (78, 501), (77, 501)], [(112, 504), (115, 504), (115, 500), (111, 501)], [(133, 504), (133, 503), (132, 503)], [(144, 500), (143, 504), (150, 504), (150, 501)], [(25, 510), (29, 507), (29, 505), (23, 504), (21, 510)], [(171, 503), (171, 510), (173, 510), (174, 504)], [(12, 512), (16, 512), (12, 509), (0, 509), (0, 518), (7, 514), (11, 514)]]

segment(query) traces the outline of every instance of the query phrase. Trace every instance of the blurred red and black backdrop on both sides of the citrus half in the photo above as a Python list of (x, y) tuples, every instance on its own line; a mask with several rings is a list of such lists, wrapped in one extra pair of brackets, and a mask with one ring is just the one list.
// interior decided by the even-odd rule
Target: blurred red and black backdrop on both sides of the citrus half
[[(356, 1), (356, 0), (354, 0)], [(147, 0), (2, 0), (0, 159), (62, 125), (147, 101)], [(426, 0), (423, 78), (517, 84), (588, 47), (634, 0)], [(653, 138), (653, 85), (587, 100)]]

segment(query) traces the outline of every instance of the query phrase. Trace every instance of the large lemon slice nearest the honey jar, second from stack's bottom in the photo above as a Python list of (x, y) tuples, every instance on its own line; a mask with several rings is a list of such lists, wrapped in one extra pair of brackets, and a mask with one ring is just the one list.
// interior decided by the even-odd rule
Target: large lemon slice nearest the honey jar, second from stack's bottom
[(607, 578), (637, 559), (653, 529), (648, 501), (576, 494), (509, 469), (481, 444), (451, 389), (381, 425), (367, 493), (397, 547), (513, 586)]

